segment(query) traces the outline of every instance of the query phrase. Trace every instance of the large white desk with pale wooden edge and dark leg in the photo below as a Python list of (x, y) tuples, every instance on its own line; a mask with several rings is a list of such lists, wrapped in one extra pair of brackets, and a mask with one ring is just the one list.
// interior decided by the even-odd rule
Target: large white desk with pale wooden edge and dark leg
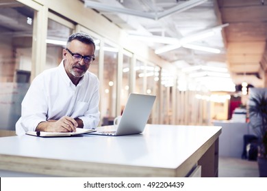
[(185, 177), (196, 165), (218, 175), (214, 126), (147, 125), (142, 134), (0, 138), (0, 176)]

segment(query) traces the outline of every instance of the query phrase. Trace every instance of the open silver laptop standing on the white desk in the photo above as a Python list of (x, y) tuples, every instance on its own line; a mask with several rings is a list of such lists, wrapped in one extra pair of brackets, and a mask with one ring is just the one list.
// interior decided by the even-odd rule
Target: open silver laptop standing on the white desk
[(90, 134), (120, 136), (143, 132), (155, 102), (155, 97), (155, 95), (130, 93), (120, 123), (118, 123), (118, 128), (114, 131), (97, 130), (97, 132)]

